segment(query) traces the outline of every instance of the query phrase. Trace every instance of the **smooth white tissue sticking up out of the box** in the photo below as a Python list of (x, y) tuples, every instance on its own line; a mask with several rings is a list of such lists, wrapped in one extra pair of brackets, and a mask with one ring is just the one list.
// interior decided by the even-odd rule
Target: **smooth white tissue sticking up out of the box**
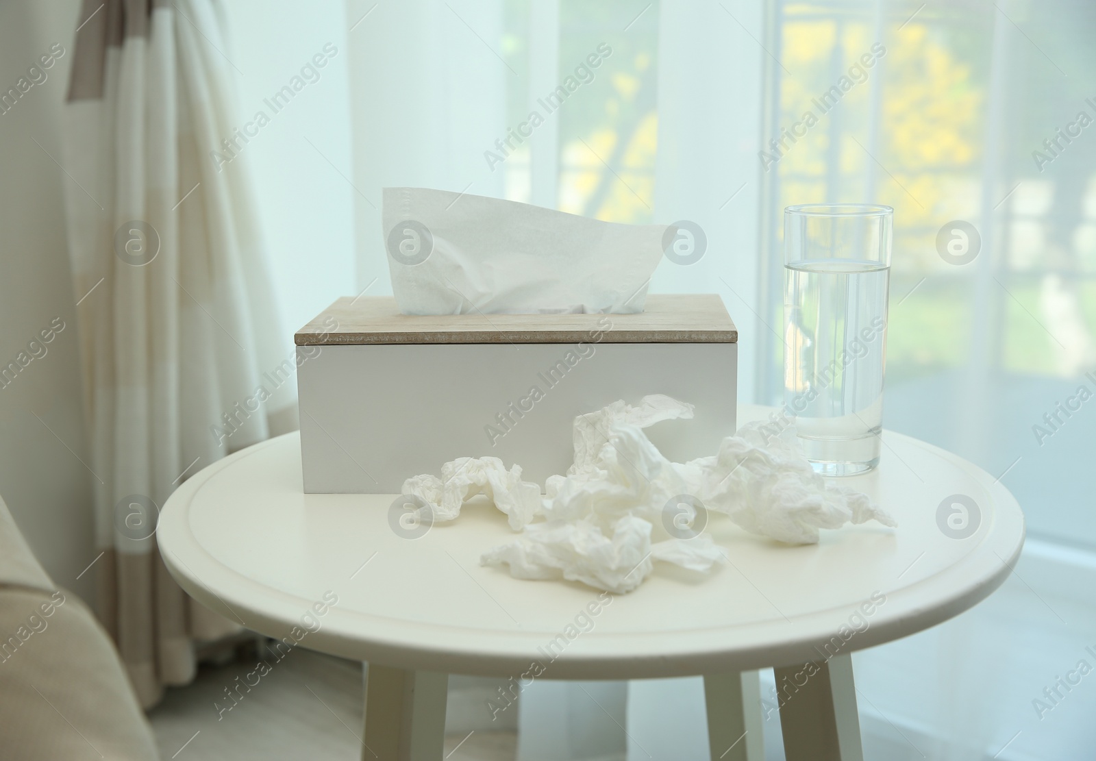
[(404, 315), (639, 313), (667, 229), (423, 188), (381, 218)]

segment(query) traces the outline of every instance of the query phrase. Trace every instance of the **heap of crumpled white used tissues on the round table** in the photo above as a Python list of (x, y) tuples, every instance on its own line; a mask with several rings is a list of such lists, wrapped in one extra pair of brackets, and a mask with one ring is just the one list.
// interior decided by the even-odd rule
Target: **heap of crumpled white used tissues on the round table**
[[(574, 464), (548, 478), (544, 498), (537, 485), (521, 480), (518, 466), (506, 470), (496, 457), (446, 463), (442, 478), (409, 478), (403, 493), (424, 499), (435, 521), (455, 519), (465, 499), (487, 493), (522, 534), (487, 552), (483, 564), (506, 565), (515, 578), (562, 577), (617, 593), (642, 583), (654, 560), (696, 571), (727, 560), (708, 534), (680, 538), (667, 531), (667, 515), (680, 516), (671, 510), (685, 508), (686, 527), (694, 524), (696, 500), (706, 513), (724, 513), (746, 531), (789, 544), (817, 543), (819, 529), (849, 522), (895, 525), (867, 496), (814, 473), (790, 425), (774, 435), (769, 424), (745, 423), (718, 454), (687, 463), (666, 459), (643, 433), (661, 420), (692, 417), (692, 405), (663, 395), (579, 416)], [(678, 503), (682, 497), (688, 499)], [(669, 538), (652, 542), (652, 533)]]

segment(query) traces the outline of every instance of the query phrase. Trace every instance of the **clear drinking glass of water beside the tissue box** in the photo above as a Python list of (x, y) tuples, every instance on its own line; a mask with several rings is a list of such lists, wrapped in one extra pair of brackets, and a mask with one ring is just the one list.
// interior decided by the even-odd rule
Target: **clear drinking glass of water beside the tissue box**
[(825, 476), (879, 464), (894, 209), (784, 209), (784, 402)]

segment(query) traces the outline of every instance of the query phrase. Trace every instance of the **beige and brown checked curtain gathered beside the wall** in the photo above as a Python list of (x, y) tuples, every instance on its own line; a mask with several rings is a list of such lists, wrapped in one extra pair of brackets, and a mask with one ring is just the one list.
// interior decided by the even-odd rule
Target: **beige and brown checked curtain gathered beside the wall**
[(193, 678), (194, 640), (241, 625), (168, 576), (158, 510), (197, 470), (293, 427), (292, 355), (246, 157), (222, 160), (242, 144), (218, 4), (85, 0), (80, 24), (64, 167), (95, 570), (101, 617), (148, 707)]

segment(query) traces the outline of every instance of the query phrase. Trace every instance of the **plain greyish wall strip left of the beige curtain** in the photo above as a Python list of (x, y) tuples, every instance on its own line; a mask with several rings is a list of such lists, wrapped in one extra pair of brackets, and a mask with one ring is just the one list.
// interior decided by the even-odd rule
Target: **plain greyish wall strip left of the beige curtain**
[(71, 180), (46, 154), (60, 160), (77, 10), (76, 0), (0, 3), (0, 89), (54, 43), (69, 54), (0, 115), (0, 365), (55, 318), (65, 325), (45, 355), (0, 388), (0, 495), (54, 581), (93, 603), (95, 569), (76, 578), (96, 552), (61, 200)]

